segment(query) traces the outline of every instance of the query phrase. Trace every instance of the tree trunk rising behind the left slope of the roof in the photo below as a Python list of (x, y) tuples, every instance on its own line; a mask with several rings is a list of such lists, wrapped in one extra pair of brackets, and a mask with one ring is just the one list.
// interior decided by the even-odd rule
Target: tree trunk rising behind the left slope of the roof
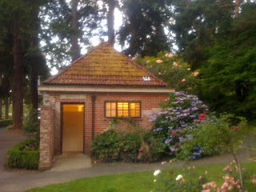
[(72, 0), (72, 34), (71, 34), (71, 50), (72, 62), (80, 57), (80, 47), (78, 45), (78, 0)]

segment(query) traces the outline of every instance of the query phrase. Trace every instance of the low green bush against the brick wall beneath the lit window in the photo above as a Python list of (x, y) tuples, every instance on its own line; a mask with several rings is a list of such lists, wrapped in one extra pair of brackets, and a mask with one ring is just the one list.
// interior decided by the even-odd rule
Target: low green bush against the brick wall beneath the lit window
[(102, 162), (154, 162), (161, 151), (162, 143), (151, 132), (107, 130), (91, 142), (92, 156)]

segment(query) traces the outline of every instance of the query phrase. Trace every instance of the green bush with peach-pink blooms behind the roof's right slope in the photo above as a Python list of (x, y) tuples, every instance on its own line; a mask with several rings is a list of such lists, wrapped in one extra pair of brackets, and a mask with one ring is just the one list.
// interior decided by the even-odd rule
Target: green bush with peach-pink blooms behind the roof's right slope
[(151, 73), (167, 82), (175, 90), (191, 90), (196, 82), (194, 73), (188, 63), (177, 54), (159, 52), (157, 57), (136, 58), (136, 62), (144, 66)]

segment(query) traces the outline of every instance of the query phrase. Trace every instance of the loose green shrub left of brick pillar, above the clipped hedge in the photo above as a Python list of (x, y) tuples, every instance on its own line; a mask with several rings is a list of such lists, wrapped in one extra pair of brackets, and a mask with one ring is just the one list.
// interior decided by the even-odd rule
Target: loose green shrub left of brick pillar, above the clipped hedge
[(38, 119), (34, 121), (34, 116), (38, 116), (38, 110), (30, 108), (29, 112), (23, 118), (22, 129), (24, 133), (30, 137), (30, 139), (36, 139), (39, 141), (40, 122)]

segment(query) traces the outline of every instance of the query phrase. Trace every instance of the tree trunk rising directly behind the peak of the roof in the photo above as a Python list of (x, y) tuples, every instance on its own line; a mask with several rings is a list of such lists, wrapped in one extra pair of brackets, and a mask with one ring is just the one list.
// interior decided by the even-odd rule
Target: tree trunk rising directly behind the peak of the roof
[(114, 0), (108, 0), (107, 30), (110, 45), (114, 46)]

